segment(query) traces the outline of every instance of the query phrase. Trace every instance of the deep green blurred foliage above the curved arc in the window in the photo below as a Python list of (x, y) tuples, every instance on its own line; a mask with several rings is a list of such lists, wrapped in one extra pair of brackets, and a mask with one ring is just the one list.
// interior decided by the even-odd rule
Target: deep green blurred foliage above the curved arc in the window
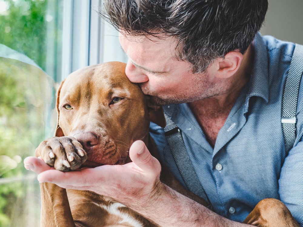
[(8, 10), (0, 13), (0, 43), (18, 50), (45, 69), (48, 1), (1, 0)]

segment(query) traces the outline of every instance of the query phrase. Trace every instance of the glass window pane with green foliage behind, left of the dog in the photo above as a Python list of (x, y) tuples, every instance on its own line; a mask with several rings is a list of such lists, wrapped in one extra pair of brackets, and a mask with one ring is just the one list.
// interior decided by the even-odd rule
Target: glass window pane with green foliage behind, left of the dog
[[(23, 159), (54, 132), (63, 0), (0, 0), (0, 226), (40, 226)], [(59, 78), (59, 79), (57, 79)]]

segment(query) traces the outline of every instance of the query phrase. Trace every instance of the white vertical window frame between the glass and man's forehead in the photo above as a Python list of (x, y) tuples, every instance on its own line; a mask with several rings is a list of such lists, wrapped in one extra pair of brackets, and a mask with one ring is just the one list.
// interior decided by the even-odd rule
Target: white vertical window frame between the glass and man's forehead
[(62, 74), (105, 61), (127, 62), (118, 31), (96, 12), (102, 0), (65, 0), (63, 6)]

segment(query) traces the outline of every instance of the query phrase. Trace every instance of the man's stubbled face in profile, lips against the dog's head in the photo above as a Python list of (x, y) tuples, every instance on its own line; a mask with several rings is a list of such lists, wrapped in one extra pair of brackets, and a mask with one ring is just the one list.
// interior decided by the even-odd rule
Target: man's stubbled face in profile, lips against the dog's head
[(125, 73), (138, 83), (154, 104), (178, 104), (216, 94), (215, 79), (209, 73), (192, 74), (190, 64), (178, 61), (173, 38), (130, 36), (119, 33), (120, 44), (129, 60)]

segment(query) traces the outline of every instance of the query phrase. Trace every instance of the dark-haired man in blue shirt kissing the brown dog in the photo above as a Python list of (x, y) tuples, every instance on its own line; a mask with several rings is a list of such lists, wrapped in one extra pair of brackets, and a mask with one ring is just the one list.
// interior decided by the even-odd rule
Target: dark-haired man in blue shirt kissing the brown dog
[[(215, 212), (162, 184), (159, 163), (142, 141), (131, 146), (133, 163), (124, 166), (62, 173), (30, 158), (26, 168), (40, 173), (40, 181), (117, 199), (160, 226), (245, 226), (238, 222), (265, 198), (280, 199), (303, 226), (303, 100), (299, 95), (297, 139), (286, 156), (281, 100), (294, 44), (258, 34), (268, 2), (104, 4), (129, 57), (126, 75), (181, 129)], [(151, 123), (151, 134), (161, 159), (186, 186), (165, 130)], [(121, 178), (112, 179), (113, 172)]]

